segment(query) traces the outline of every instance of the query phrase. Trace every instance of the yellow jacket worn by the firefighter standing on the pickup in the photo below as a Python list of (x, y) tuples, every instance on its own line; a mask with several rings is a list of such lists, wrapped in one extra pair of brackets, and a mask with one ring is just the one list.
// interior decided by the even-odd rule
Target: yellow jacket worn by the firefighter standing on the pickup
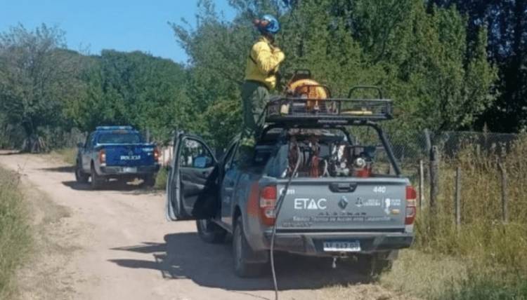
[(280, 48), (271, 45), (266, 37), (261, 36), (251, 48), (247, 57), (245, 80), (259, 81), (270, 90), (276, 86), (276, 72), (285, 55)]

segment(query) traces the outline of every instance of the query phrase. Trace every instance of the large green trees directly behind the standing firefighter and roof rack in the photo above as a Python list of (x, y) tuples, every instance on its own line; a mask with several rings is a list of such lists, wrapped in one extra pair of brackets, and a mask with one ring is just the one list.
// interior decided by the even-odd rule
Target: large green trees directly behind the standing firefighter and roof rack
[[(355, 85), (381, 86), (396, 101), (398, 118), (389, 125), (398, 128), (394, 139), (404, 141), (423, 128), (470, 128), (495, 99), (490, 88), (497, 76), (486, 59), (486, 31), (476, 28), (478, 39), (467, 45), (467, 18), (455, 8), (427, 10), (419, 0), (305, 0), (285, 9), (282, 1), (231, 1), (238, 16), (224, 22), (211, 1), (200, 3), (195, 28), (172, 26), (193, 67), (189, 95), (207, 107), (226, 101), (239, 107), (239, 81), (256, 38), (250, 21), (264, 12), (280, 14), (282, 74), (311, 69), (333, 95), (347, 95)], [(283, 76), (282, 86), (287, 79)], [(223, 114), (202, 111), (207, 118)], [(233, 122), (229, 128), (239, 123), (226, 121)], [(223, 137), (224, 128), (215, 123), (201, 129)]]

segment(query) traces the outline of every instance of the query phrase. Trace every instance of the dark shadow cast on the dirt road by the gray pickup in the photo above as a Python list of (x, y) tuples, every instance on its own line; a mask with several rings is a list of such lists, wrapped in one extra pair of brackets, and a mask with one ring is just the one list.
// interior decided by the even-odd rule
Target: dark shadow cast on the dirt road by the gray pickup
[[(197, 233), (174, 233), (164, 236), (165, 243), (143, 243), (112, 250), (152, 253), (152, 260), (110, 259), (125, 268), (158, 270), (163, 278), (188, 278), (198, 285), (228, 290), (273, 290), (271, 266), (262, 278), (238, 278), (233, 271), (229, 244), (211, 245)], [(331, 285), (368, 282), (353, 270), (354, 264), (339, 262), (333, 269), (332, 259), (277, 254), (275, 266), (280, 290), (318, 289)]]

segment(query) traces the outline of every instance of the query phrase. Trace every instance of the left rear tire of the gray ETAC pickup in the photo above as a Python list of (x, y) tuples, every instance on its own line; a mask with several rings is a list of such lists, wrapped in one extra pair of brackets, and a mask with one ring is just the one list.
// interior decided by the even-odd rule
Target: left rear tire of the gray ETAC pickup
[(245, 238), (242, 217), (238, 217), (233, 232), (234, 272), (238, 277), (251, 278), (259, 277), (263, 274), (263, 268), (266, 264), (254, 264), (247, 261), (247, 257), (252, 257), (253, 255), (254, 252)]

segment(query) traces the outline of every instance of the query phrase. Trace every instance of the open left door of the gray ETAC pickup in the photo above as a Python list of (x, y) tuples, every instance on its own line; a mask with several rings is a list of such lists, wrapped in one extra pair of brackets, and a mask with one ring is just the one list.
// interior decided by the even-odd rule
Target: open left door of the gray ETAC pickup
[(166, 217), (171, 221), (197, 219), (194, 205), (202, 196), (216, 167), (216, 158), (197, 136), (178, 132), (174, 137), (174, 159), (167, 178)]

